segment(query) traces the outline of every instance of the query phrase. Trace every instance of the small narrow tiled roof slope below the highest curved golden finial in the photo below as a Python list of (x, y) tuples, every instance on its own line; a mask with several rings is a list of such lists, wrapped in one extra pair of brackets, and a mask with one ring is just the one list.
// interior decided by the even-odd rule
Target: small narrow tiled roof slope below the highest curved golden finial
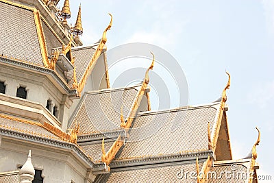
[[(86, 71), (88, 63), (90, 62), (96, 47), (74, 47), (71, 48), (73, 57), (75, 57), (74, 65), (76, 66), (77, 82), (81, 79)], [(68, 72), (69, 85), (73, 84), (73, 70)]]

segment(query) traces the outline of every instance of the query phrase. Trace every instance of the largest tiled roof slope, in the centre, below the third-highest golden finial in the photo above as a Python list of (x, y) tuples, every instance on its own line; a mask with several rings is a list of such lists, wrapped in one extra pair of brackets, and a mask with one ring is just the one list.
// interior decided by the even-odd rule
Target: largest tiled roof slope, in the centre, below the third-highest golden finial
[(138, 114), (132, 130), (129, 131), (127, 143), (116, 154), (116, 158), (206, 151), (208, 123), (212, 132), (218, 108), (219, 103), (212, 103), (206, 106)]

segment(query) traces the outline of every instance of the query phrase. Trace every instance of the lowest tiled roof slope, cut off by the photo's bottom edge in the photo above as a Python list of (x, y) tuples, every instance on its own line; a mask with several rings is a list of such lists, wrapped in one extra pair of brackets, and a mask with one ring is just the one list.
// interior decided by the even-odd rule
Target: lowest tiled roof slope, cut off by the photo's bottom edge
[[(199, 168), (203, 162), (199, 163)], [(183, 170), (183, 171), (182, 171)], [(179, 172), (179, 173), (178, 173)], [(182, 172), (182, 173), (181, 173)], [(186, 172), (189, 172), (186, 175)], [(193, 173), (193, 177), (190, 177)], [(111, 169), (110, 173), (103, 175), (100, 182), (197, 182), (196, 163), (191, 162), (177, 164), (157, 164), (153, 167), (141, 166), (123, 170)], [(182, 176), (184, 175), (184, 176)]]

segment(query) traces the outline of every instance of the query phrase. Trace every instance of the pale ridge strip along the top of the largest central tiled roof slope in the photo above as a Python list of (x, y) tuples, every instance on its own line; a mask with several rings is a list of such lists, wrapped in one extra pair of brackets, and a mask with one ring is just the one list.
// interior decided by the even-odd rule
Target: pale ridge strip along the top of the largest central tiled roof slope
[(163, 110), (151, 110), (151, 111), (144, 111), (144, 112), (138, 112), (136, 114), (136, 117), (143, 116), (143, 115), (149, 115), (149, 114), (162, 114), (166, 112), (175, 112), (175, 111), (181, 111), (181, 110), (195, 110), (199, 108), (214, 108), (218, 110), (218, 108), (215, 108), (214, 106), (219, 105), (220, 102), (212, 102), (212, 103), (204, 103), (204, 104), (199, 104), (199, 105), (194, 105), (194, 106), (182, 106), (178, 108), (171, 108), (171, 109), (163, 109)]

